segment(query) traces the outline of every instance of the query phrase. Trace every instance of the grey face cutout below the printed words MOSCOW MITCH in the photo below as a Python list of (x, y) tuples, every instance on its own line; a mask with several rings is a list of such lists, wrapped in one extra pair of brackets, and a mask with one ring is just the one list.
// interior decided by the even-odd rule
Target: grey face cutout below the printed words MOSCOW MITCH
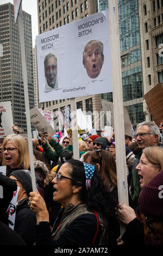
[(49, 53), (44, 60), (45, 68), (45, 91), (58, 89), (57, 80), (57, 57)]

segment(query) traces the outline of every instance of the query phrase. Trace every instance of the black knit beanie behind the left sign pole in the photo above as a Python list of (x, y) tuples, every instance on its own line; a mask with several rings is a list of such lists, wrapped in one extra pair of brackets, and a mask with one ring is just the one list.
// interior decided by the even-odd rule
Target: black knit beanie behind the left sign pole
[[(29, 193), (33, 191), (30, 170), (14, 170), (13, 172), (10, 173), (10, 176), (11, 175), (21, 182), (24, 190), (26, 190), (27, 196), (29, 197)], [(38, 188), (40, 177), (37, 174), (35, 174), (35, 180), (36, 187)]]

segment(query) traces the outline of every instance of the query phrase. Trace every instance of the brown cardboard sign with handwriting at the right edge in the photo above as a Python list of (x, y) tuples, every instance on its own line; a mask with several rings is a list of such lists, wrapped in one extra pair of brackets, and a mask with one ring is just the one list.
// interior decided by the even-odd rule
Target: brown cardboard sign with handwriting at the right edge
[(144, 99), (156, 125), (160, 126), (161, 120), (163, 120), (163, 83), (159, 83), (149, 90), (144, 95)]

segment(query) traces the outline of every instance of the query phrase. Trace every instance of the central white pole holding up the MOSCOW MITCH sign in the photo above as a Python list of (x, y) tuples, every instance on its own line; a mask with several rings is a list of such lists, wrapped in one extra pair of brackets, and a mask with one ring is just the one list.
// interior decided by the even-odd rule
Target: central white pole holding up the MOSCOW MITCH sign
[(72, 124), (71, 129), (72, 129), (72, 142), (73, 142), (73, 159), (79, 160), (76, 98), (71, 98), (70, 102), (71, 102), (71, 124)]

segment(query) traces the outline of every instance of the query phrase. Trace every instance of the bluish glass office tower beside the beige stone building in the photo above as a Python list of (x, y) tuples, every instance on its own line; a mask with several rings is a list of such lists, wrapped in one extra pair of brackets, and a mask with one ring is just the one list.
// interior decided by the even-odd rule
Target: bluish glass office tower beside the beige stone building
[[(143, 114), (143, 85), (137, 0), (118, 0), (123, 103), (130, 121), (136, 126), (145, 120)], [(98, 8), (97, 8), (98, 7)], [(97, 0), (96, 10), (108, 8), (108, 0)], [(112, 101), (112, 94), (102, 94)]]

